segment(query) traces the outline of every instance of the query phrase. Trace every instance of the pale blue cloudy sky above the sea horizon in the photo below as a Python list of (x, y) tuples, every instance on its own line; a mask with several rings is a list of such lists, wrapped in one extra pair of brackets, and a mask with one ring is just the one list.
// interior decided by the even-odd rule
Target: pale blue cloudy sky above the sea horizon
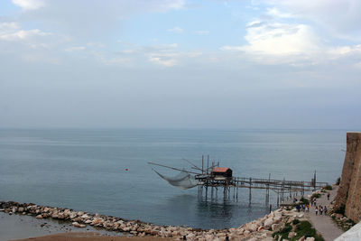
[(1, 128), (361, 129), (359, 0), (1, 0)]

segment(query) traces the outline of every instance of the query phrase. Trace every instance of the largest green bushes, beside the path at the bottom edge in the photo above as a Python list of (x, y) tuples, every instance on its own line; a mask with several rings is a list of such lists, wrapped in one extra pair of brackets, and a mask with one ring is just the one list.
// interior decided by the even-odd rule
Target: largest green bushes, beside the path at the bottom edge
[(316, 229), (312, 227), (309, 221), (301, 221), (299, 219), (294, 219), (292, 221), (293, 226), (295, 226), (296, 236), (293, 236), (291, 239), (288, 238), (290, 232), (292, 231), (292, 226), (290, 223), (286, 224), (280, 231), (273, 233), (273, 238), (278, 238), (282, 236), (281, 240), (288, 239), (291, 241), (296, 241), (301, 238), (301, 236), (305, 236), (306, 238), (309, 236), (313, 236), (315, 241), (324, 241), (322, 236), (318, 235)]

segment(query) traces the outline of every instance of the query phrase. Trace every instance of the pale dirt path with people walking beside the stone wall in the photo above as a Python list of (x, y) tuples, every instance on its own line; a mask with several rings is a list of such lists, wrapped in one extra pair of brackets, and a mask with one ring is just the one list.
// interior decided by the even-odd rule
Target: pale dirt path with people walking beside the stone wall
[[(317, 206), (321, 205), (324, 207), (326, 205), (329, 209), (329, 203), (331, 200), (335, 199), (336, 194), (338, 193), (338, 187), (333, 187), (333, 190), (330, 190), (329, 193), (329, 200), (327, 194), (324, 194), (317, 199)], [(340, 229), (329, 216), (319, 214), (316, 216), (315, 207), (310, 207), (310, 213), (306, 214), (305, 217), (310, 220), (313, 227), (316, 228), (326, 241), (334, 240), (344, 233), (344, 231)]]

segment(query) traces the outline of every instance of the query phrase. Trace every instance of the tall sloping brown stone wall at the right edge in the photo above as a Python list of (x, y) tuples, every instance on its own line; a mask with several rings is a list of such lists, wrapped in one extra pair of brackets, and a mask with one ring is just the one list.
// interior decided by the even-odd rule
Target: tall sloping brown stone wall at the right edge
[(361, 220), (361, 133), (347, 133), (347, 151), (335, 206), (346, 206), (347, 218)]

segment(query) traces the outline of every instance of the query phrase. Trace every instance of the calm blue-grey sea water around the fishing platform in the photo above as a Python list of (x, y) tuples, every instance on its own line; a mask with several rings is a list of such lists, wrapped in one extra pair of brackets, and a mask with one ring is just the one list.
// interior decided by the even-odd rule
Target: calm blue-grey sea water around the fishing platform
[[(264, 191), (240, 199), (198, 199), (147, 162), (188, 168), (209, 154), (235, 176), (334, 182), (346, 146), (342, 130), (0, 130), (0, 199), (86, 210), (159, 225), (223, 228), (264, 216)], [(128, 171), (125, 171), (128, 169)], [(178, 174), (157, 168), (165, 175)], [(272, 201), (275, 195), (271, 192)]]

